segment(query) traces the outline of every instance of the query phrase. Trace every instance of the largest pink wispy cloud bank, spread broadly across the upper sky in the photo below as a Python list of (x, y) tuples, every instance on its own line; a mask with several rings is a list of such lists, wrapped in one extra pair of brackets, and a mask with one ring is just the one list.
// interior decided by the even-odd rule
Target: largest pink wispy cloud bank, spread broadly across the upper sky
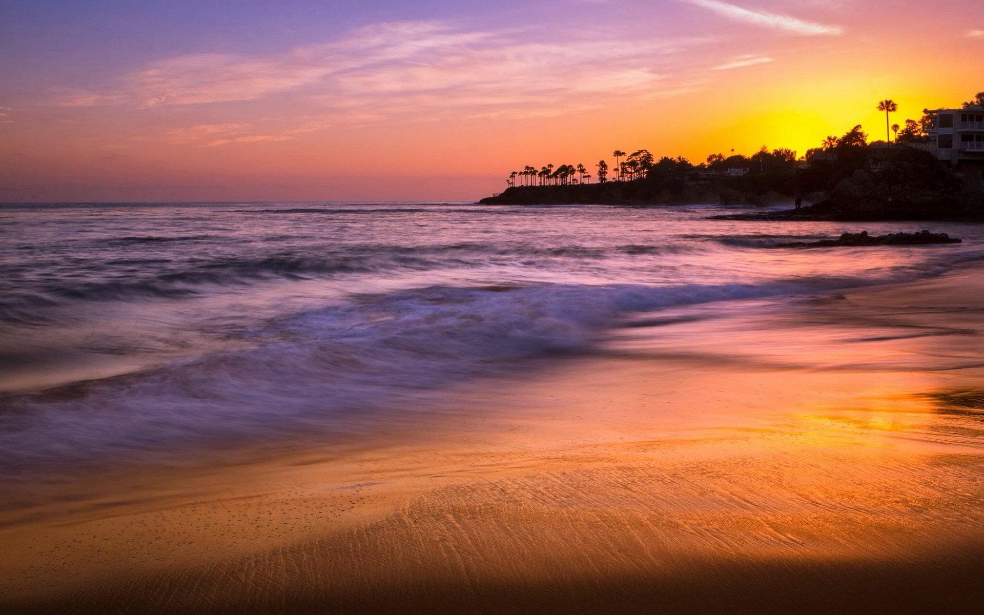
[[(284, 92), (339, 106), (440, 96), (445, 108), (525, 104), (657, 90), (660, 68), (696, 40), (530, 42), (515, 32), (461, 31), (437, 22), (384, 24), (275, 57), (196, 54), (126, 75), (107, 92), (61, 103), (142, 108), (255, 100)], [(535, 110), (535, 109), (534, 109)]]

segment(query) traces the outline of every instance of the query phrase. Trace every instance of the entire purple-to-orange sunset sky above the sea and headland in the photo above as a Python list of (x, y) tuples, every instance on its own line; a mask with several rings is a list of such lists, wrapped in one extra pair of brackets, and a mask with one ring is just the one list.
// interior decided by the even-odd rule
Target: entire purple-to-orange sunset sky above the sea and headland
[(474, 201), (984, 90), (984, 1), (4, 0), (0, 202)]

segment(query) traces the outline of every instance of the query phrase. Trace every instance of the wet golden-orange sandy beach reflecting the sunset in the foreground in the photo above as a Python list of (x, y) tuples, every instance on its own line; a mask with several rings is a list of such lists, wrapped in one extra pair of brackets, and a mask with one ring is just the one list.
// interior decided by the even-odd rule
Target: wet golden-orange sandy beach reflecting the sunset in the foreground
[(388, 431), (22, 488), (0, 606), (978, 613), (982, 317), (981, 270), (664, 311)]

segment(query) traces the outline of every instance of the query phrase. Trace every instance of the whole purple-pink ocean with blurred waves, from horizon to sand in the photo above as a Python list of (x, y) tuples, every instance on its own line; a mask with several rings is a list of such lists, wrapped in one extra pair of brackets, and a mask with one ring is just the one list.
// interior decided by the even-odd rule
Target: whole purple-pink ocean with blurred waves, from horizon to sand
[[(707, 219), (733, 212), (0, 206), (2, 478), (372, 431), (462, 383), (665, 344), (668, 311), (711, 323), (984, 258), (981, 224)], [(777, 247), (923, 227), (963, 243)], [(646, 335), (610, 343), (630, 328)], [(696, 331), (673, 343), (741, 334)]]

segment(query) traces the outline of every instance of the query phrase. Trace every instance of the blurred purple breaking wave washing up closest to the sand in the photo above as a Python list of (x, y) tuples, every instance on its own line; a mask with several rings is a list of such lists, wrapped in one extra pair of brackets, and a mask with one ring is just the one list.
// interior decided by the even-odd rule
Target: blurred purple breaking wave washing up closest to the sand
[(501, 373), (538, 355), (590, 351), (628, 313), (817, 289), (816, 280), (552, 284), (361, 296), (243, 331), (257, 344), (248, 350), (8, 396), (0, 466), (15, 471), (344, 429), (402, 407), (394, 402), (414, 391)]

